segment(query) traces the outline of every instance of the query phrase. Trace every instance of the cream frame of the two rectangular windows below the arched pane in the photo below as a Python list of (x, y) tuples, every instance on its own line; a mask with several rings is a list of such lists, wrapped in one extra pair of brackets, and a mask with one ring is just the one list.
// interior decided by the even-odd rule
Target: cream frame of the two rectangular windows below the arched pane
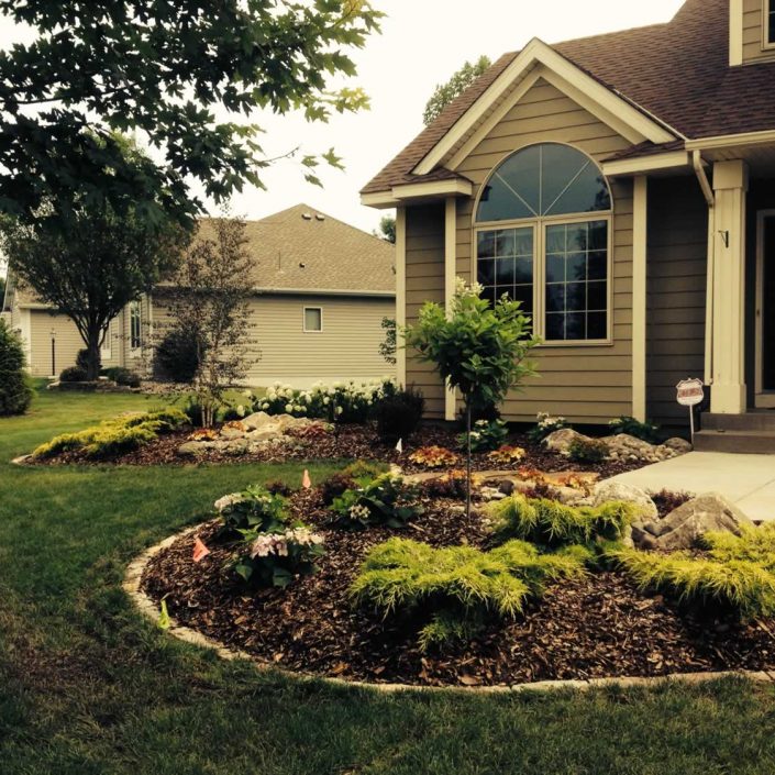
[[(476, 213), (476, 208), (474, 209)], [(606, 221), (608, 224), (608, 245), (606, 247), (606, 337), (605, 339), (568, 339), (545, 341), (546, 334), (546, 228), (553, 225), (572, 225)], [(523, 218), (513, 221), (486, 221), (474, 226), (474, 266), (472, 277), (479, 275), (479, 232), (499, 229), (533, 229), (533, 333), (543, 341), (542, 347), (600, 347), (613, 344), (613, 213), (610, 210), (585, 212), (571, 215), (547, 215), (544, 218)]]

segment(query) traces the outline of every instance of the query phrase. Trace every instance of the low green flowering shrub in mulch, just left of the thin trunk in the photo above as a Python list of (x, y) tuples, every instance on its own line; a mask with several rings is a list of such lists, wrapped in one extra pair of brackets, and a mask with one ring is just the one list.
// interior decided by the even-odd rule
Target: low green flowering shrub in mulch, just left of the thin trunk
[(424, 511), (418, 497), (417, 488), (408, 487), (400, 476), (384, 474), (334, 498), (331, 511), (341, 528), (363, 529), (377, 524), (403, 528)]

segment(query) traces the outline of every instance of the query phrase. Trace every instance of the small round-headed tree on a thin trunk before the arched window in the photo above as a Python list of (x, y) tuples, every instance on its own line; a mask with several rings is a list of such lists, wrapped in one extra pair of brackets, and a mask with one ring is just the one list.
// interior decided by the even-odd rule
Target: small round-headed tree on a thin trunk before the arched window
[(470, 513), (470, 417), (474, 406), (498, 405), (509, 390), (535, 374), (528, 361), (539, 344), (521, 302), (501, 297), (495, 308), (480, 298), (481, 287), (457, 279), (450, 309), (429, 301), (403, 336), (420, 359), (432, 363), (453, 389), (463, 394), (466, 416), (467, 498)]

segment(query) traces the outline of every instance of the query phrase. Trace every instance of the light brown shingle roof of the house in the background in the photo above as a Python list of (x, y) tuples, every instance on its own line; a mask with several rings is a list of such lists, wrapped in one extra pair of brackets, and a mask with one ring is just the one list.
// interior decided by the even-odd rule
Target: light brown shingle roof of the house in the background
[(307, 204), (247, 221), (246, 236), (261, 290), (396, 292), (394, 245)]

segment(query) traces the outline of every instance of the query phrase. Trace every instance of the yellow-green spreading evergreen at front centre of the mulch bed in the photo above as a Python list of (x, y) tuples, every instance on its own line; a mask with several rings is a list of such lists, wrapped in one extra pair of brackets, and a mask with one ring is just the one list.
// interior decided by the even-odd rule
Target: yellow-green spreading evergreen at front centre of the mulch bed
[(588, 558), (583, 547), (542, 554), (522, 541), (483, 552), (391, 539), (369, 552), (350, 594), (385, 618), (419, 620), (419, 644), (428, 651), (469, 640), (488, 621), (513, 619), (550, 584), (584, 575)]

